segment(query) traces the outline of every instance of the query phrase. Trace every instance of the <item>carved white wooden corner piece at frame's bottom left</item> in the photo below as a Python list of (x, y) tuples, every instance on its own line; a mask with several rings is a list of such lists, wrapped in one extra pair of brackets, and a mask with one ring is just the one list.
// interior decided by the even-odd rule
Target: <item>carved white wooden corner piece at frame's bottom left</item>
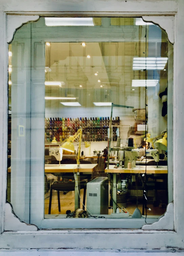
[(11, 204), (6, 203), (4, 213), (5, 230), (14, 231), (36, 231), (38, 228), (35, 225), (22, 222), (14, 213)]

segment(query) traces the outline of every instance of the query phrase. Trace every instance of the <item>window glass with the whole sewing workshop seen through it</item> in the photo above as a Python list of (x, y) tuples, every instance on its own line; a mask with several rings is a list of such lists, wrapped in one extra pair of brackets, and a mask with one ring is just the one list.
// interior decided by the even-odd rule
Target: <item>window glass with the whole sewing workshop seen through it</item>
[(166, 32), (138, 17), (49, 17), (17, 30), (8, 50), (7, 201), (21, 220), (30, 204), (46, 219), (165, 213), (172, 58)]

